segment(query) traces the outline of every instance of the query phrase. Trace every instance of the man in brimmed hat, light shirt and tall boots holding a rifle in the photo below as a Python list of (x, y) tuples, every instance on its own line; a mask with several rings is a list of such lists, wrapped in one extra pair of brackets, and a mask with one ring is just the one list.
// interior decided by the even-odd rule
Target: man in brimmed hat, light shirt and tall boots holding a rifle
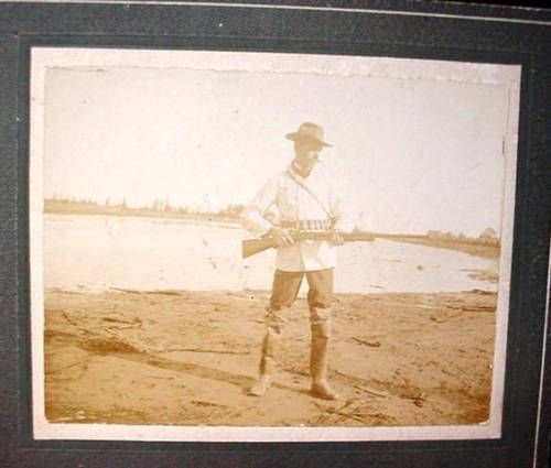
[[(270, 178), (242, 213), (244, 227), (253, 236), (271, 236), (278, 247), (276, 273), (267, 307), (267, 331), (262, 341), (259, 378), (251, 395), (263, 395), (270, 387), (278, 341), (285, 312), (293, 304), (303, 276), (309, 283), (307, 304), (311, 324), (311, 392), (314, 396), (335, 400), (337, 394), (327, 382), (331, 338), (331, 302), (334, 246), (344, 243), (341, 232), (353, 228), (343, 213), (341, 199), (332, 184), (314, 168), (321, 151), (331, 146), (322, 127), (305, 122), (287, 134), (294, 142), (294, 159), (287, 171)], [(299, 240), (292, 230), (329, 231), (328, 240)]]

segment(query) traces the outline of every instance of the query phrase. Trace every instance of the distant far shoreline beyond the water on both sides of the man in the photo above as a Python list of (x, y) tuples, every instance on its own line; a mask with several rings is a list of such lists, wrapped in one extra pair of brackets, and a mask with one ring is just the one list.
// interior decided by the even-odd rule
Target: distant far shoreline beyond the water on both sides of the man
[[(129, 208), (121, 206), (101, 206), (86, 203), (64, 203), (46, 200), (44, 213), (51, 215), (95, 215), (95, 216), (121, 216), (156, 219), (180, 219), (186, 221), (201, 221), (207, 224), (226, 224), (231, 227), (240, 227), (237, 217), (218, 215), (216, 213), (183, 213), (177, 210), (155, 210), (148, 208)], [(499, 241), (487, 242), (477, 239), (461, 240), (454, 238), (434, 238), (423, 235), (407, 233), (377, 233), (375, 238), (387, 239), (396, 242), (415, 243), (439, 249), (449, 249), (483, 259), (498, 260), (500, 253)]]

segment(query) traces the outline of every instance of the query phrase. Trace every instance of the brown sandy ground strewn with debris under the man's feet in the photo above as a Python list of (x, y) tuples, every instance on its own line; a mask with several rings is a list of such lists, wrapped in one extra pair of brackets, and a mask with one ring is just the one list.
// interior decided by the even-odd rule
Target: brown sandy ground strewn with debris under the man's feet
[(337, 295), (329, 377), (309, 394), (304, 300), (289, 314), (280, 370), (257, 372), (268, 292), (46, 291), (51, 422), (404, 426), (488, 418), (496, 294)]

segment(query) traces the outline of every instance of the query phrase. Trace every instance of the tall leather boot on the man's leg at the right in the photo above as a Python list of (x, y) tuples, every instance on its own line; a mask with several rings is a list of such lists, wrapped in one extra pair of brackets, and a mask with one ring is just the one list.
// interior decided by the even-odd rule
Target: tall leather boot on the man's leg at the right
[(310, 355), (310, 371), (312, 373), (312, 395), (323, 400), (336, 400), (337, 393), (327, 382), (328, 345), (331, 323), (328, 320), (312, 324), (312, 347)]

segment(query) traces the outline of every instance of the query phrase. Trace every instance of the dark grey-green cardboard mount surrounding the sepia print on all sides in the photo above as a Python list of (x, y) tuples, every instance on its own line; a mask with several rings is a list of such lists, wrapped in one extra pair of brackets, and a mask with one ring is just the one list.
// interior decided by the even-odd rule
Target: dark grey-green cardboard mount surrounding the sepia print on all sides
[[(2, 6), (0, 6), (1, 9)], [(36, 6), (34, 6), (36, 8)], [(45, 6), (47, 7), (47, 6)], [(60, 6), (57, 6), (60, 7)], [(86, 6), (78, 6), (86, 8)], [(105, 6), (109, 7), (109, 6)], [(110, 6), (112, 7), (112, 4)], [(152, 9), (155, 6), (150, 6)], [(173, 8), (180, 8), (174, 6)], [(196, 8), (196, 7), (195, 7)], [(209, 7), (212, 9), (212, 7)], [(80, 11), (80, 8), (75, 9)], [(109, 10), (109, 8), (107, 8)], [(117, 9), (120, 11), (120, 7)], [(264, 12), (266, 14), (266, 12)], [(329, 12), (327, 14), (331, 14)], [(380, 15), (380, 13), (378, 14)], [(270, 17), (270, 15), (268, 15)], [(396, 15), (395, 15), (396, 17)], [(395, 18), (392, 17), (392, 18)], [(392, 19), (391, 18), (391, 19)], [(268, 18), (269, 19), (269, 18)], [(397, 19), (397, 18), (395, 18)], [(141, 21), (144, 21), (143, 19)], [(266, 21), (266, 20), (264, 20)], [(402, 19), (400, 21), (408, 22), (408, 19)], [(443, 21), (441, 19), (435, 19), (435, 21)], [(468, 21), (468, 20), (467, 20)], [(148, 21), (145, 21), (148, 22)], [(390, 21), (392, 22), (392, 21)], [(496, 23), (495, 26), (500, 23)], [(482, 25), (482, 24), (480, 24)], [(529, 28), (529, 26), (523, 26)], [(387, 31), (390, 33), (390, 31)], [(547, 33), (549, 37), (549, 32)], [(2, 37), (6, 39), (6, 37)], [(476, 466), (493, 466), (493, 467), (505, 467), (505, 466), (518, 466), (523, 467), (528, 457), (530, 456), (530, 447), (519, 446), (519, 442), (523, 438), (519, 438), (519, 423), (520, 433), (533, 436), (533, 425), (536, 420), (536, 414), (530, 413), (527, 417), (522, 410), (527, 406), (520, 407), (519, 404), (522, 402), (530, 402), (528, 406), (533, 410), (537, 406), (538, 400), (538, 388), (531, 385), (528, 391), (526, 389), (519, 388), (519, 374), (529, 373), (531, 376), (530, 381), (534, 383), (534, 368), (537, 367), (537, 374), (540, 373), (540, 362), (536, 360), (536, 366), (527, 366), (526, 355), (530, 351), (536, 351), (536, 356), (541, 356), (542, 352), (542, 339), (543, 339), (543, 323), (541, 317), (536, 317), (536, 313), (529, 315), (529, 320), (526, 320), (520, 311), (526, 309), (526, 304), (532, 304), (532, 311), (544, 305), (544, 294), (538, 291), (530, 291), (527, 289), (528, 279), (523, 275), (527, 273), (527, 269), (532, 270), (532, 274), (528, 277), (530, 280), (536, 279), (536, 284), (542, 284), (544, 286), (544, 275), (541, 271), (547, 272), (547, 268), (542, 269), (544, 265), (544, 255), (541, 253), (545, 252), (544, 243), (544, 216), (540, 206), (540, 209), (529, 209), (530, 203), (537, 200), (538, 195), (543, 195), (543, 172), (538, 173), (538, 167), (544, 167), (543, 155), (540, 152), (536, 157), (530, 152), (531, 146), (537, 143), (534, 140), (544, 140), (544, 131), (540, 123), (539, 130), (534, 129), (533, 118), (534, 116), (534, 92), (537, 92), (538, 86), (540, 86), (540, 97), (542, 97), (542, 85), (545, 77), (549, 77), (549, 62), (542, 63), (541, 54), (528, 52), (526, 48), (520, 47), (516, 51), (503, 50), (498, 51), (479, 51), (476, 48), (465, 48), (465, 47), (429, 47), (419, 45), (408, 45), (408, 44), (390, 44), (385, 43), (385, 41), (370, 41), (355, 42), (347, 45), (344, 43), (331, 43), (331, 52), (327, 51), (327, 43), (320, 40), (259, 40), (258, 37), (234, 37), (230, 46), (228, 46), (228, 41), (224, 37), (209, 36), (207, 32), (203, 37), (197, 37), (196, 35), (132, 35), (132, 34), (68, 34), (68, 35), (57, 35), (52, 33), (19, 33), (17, 34), (17, 45), (11, 44), (12, 53), (17, 52), (19, 54), (18, 65), (19, 65), (19, 87), (15, 86), (19, 92), (19, 111), (17, 111), (17, 117), (19, 118), (19, 153), (15, 151), (13, 153), (13, 148), (10, 148), (10, 156), (14, 156), (14, 161), (18, 165), (18, 178), (11, 182), (10, 195), (14, 195), (18, 202), (18, 221), (19, 229), (17, 229), (15, 246), (10, 246), (10, 248), (15, 247), (15, 250), (11, 250), (11, 253), (15, 253), (15, 258), (19, 262), (19, 271), (15, 273), (19, 277), (19, 289), (17, 291), (18, 306), (19, 311), (19, 323), (15, 329), (19, 328), (19, 349), (18, 346), (13, 349), (9, 349), (10, 358), (19, 359), (19, 376), (15, 381), (10, 379), (13, 378), (10, 374), (8, 379), (13, 387), (15, 384), (15, 400), (19, 401), (19, 425), (20, 425), (20, 442), (15, 444), (19, 449), (24, 449), (31, 458), (36, 460), (43, 456), (44, 449), (54, 450), (54, 453), (60, 453), (60, 450), (71, 450), (72, 456), (68, 458), (74, 458), (74, 461), (87, 460), (87, 462), (93, 462), (94, 460), (99, 461), (101, 459), (100, 451), (109, 451), (109, 456), (112, 457), (116, 454), (117, 464), (125, 466), (128, 464), (132, 457), (134, 459), (139, 458), (138, 453), (154, 453), (153, 457), (159, 456), (159, 460), (165, 461), (171, 459), (174, 455), (180, 454), (183, 456), (192, 456), (197, 459), (201, 454), (201, 461), (205, 465), (212, 464), (212, 460), (222, 462), (223, 459), (228, 464), (233, 457), (227, 456), (227, 454), (233, 454), (234, 460), (238, 457), (240, 461), (248, 464), (257, 462), (259, 459), (273, 461), (278, 456), (278, 451), (283, 450), (285, 454), (287, 462), (304, 462), (304, 457), (311, 459), (312, 451), (318, 453), (324, 457), (321, 462), (322, 466), (332, 465), (332, 460), (343, 459), (346, 456), (347, 462), (350, 466), (355, 464), (365, 462), (365, 458), (369, 457), (372, 462), (385, 462), (385, 466), (401, 466), (404, 460), (408, 462), (414, 462), (414, 466), (440, 466), (442, 459), (446, 459), (447, 466), (467, 466), (466, 460), (476, 460), (476, 462), (482, 462), (484, 465)], [(256, 45), (255, 45), (256, 44)], [(260, 46), (259, 46), (260, 44)], [(317, 44), (317, 46), (313, 46)], [(414, 44), (414, 41), (413, 41)], [(0, 46), (2, 43), (0, 43)], [(185, 50), (205, 50), (205, 51), (241, 51), (241, 52), (284, 52), (284, 53), (313, 53), (313, 54), (326, 54), (326, 55), (365, 55), (365, 56), (390, 56), (396, 58), (425, 58), (425, 59), (446, 59), (446, 61), (463, 61), (463, 62), (479, 62), (479, 63), (504, 63), (504, 64), (519, 64), (522, 66), (522, 77), (521, 77), (521, 99), (520, 99), (520, 122), (519, 122), (519, 143), (518, 143), (518, 160), (517, 160), (517, 194), (516, 194), (516, 208), (515, 208), (515, 229), (514, 229), (514, 252), (512, 252), (512, 272), (511, 272), (511, 290), (510, 290), (510, 312), (509, 312), (509, 327), (508, 327), (508, 345), (507, 345), (507, 369), (506, 369), (506, 387), (505, 387), (505, 409), (504, 409), (504, 435), (500, 439), (477, 439), (477, 440), (426, 440), (426, 442), (370, 442), (370, 443), (170, 443), (170, 442), (91, 442), (91, 440), (34, 440), (32, 438), (32, 427), (31, 427), (31, 414), (32, 414), (32, 394), (30, 388), (30, 298), (29, 298), (29, 275), (30, 275), (30, 264), (29, 264), (29, 226), (28, 226), (28, 155), (29, 155), (29, 79), (30, 79), (30, 51), (33, 46), (89, 46), (89, 47), (106, 47), (106, 48), (185, 48)], [(252, 45), (252, 47), (251, 47)], [(262, 46), (263, 45), (263, 46)], [(271, 47), (267, 47), (271, 45)], [(290, 50), (290, 45), (293, 50)], [(300, 47), (299, 47), (300, 45)], [(242, 48), (241, 48), (242, 47)], [(339, 48), (341, 47), (341, 48)], [(15, 48), (15, 51), (13, 51)], [(345, 48), (345, 50), (343, 50)], [(376, 53), (374, 50), (377, 48)], [(359, 53), (361, 52), (361, 53)], [(403, 54), (403, 55), (401, 55)], [(413, 54), (413, 55), (412, 55)], [(455, 58), (454, 58), (455, 57)], [(486, 59), (491, 58), (491, 59)], [(496, 58), (498, 58), (496, 61)], [(9, 64), (9, 62), (8, 62)], [(3, 67), (3, 66), (2, 66)], [(540, 74), (539, 78), (534, 77), (534, 68), (543, 67), (545, 74)], [(2, 70), (4, 72), (4, 70)], [(12, 69), (9, 72), (13, 72)], [(542, 78), (543, 76), (543, 78)], [(539, 85), (538, 85), (539, 84)], [(13, 92), (14, 89), (8, 87), (8, 91)], [(549, 98), (549, 97), (548, 97)], [(542, 100), (544, 107), (544, 100)], [(13, 112), (13, 108), (7, 109), (10, 113)], [(2, 118), (6, 117), (6, 110), (1, 110)], [(538, 112), (536, 112), (538, 113)], [(540, 109), (541, 117), (541, 109)], [(531, 124), (530, 124), (531, 123)], [(543, 121), (545, 123), (545, 121)], [(549, 130), (547, 130), (549, 132)], [(536, 132), (536, 138), (533, 132)], [(542, 151), (542, 150), (540, 150)], [(530, 157), (531, 156), (531, 157)], [(6, 164), (1, 161), (0, 164)], [(529, 177), (530, 176), (530, 177)], [(537, 181), (538, 185), (536, 189), (531, 188), (529, 185), (529, 178), (531, 182)], [(6, 211), (2, 205), (2, 224), (6, 222), (8, 218), (6, 217)], [(530, 216), (532, 215), (532, 216)], [(529, 219), (536, 217), (539, 221), (536, 225), (542, 228), (543, 232), (537, 233), (527, 232), (530, 226)], [(549, 248), (549, 246), (547, 246)], [(530, 262), (525, 260), (526, 253), (534, 252), (539, 257), (536, 259), (537, 262)], [(543, 258), (543, 260), (542, 260)], [(536, 273), (536, 274), (533, 274)], [(14, 286), (11, 286), (12, 291)], [(9, 291), (9, 290), (8, 290)], [(542, 289), (543, 291), (543, 289)], [(528, 297), (527, 297), (528, 296)], [(3, 298), (3, 297), (2, 297)], [(12, 311), (13, 312), (13, 311)], [(516, 312), (514, 314), (514, 312)], [(17, 317), (17, 314), (15, 314)], [(514, 322), (511, 318), (515, 318)], [(515, 328), (514, 328), (515, 325)], [(518, 326), (518, 328), (517, 328)], [(527, 334), (534, 339), (532, 342), (527, 342)], [(17, 336), (17, 335), (15, 335)], [(511, 348), (520, 349), (520, 351), (511, 352)], [(533, 353), (531, 356), (534, 356)], [(3, 364), (2, 364), (3, 366)], [(523, 381), (523, 380), (521, 380)], [(519, 393), (520, 392), (520, 393)], [(2, 404), (4, 406), (4, 404)], [(8, 405), (6, 405), (8, 407)], [(4, 407), (2, 407), (4, 410)], [(2, 426), (2, 431), (4, 427)], [(4, 434), (6, 437), (13, 439), (13, 435)], [(6, 438), (6, 439), (8, 439)], [(91, 457), (88, 454), (90, 450), (94, 454)], [(112, 451), (115, 450), (115, 451)], [(159, 453), (162, 450), (165, 455)], [(17, 449), (15, 451), (17, 453)], [(41, 455), (42, 454), (42, 455)], [(132, 455), (133, 454), (133, 455)], [(511, 455), (515, 454), (511, 458)], [(22, 454), (19, 453), (19, 456)], [(143, 456), (143, 455), (142, 455)], [(164, 457), (164, 458), (163, 458)], [(214, 458), (213, 458), (214, 457)], [(268, 458), (266, 458), (268, 457)], [(66, 456), (65, 456), (66, 458)], [(48, 458), (48, 464), (51, 466), (60, 466), (54, 462), (54, 456)], [(185, 458), (184, 458), (185, 459)], [(439, 461), (440, 460), (440, 461)], [(511, 461), (516, 460), (516, 461)], [(509, 465), (511, 464), (512, 465)], [(419, 465), (417, 465), (419, 464)], [(522, 465), (520, 465), (522, 464)], [(50, 465), (48, 465), (50, 466)], [(91, 465), (90, 465), (91, 466)], [(97, 465), (101, 466), (101, 465)], [(119, 466), (119, 465), (111, 465)], [(475, 466), (475, 465), (471, 465)]]

